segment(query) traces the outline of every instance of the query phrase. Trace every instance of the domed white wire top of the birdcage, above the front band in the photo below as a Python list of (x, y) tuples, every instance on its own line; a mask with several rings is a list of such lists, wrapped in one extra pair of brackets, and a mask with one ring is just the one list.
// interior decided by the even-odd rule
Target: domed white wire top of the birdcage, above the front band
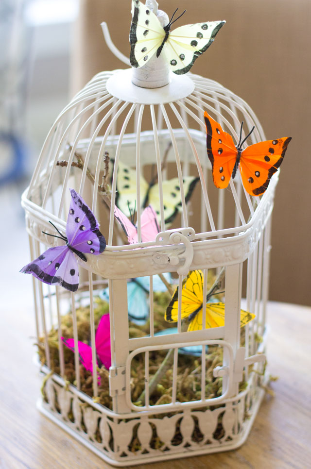
[[(189, 236), (194, 243), (231, 245), (232, 236), (242, 236), (256, 220), (260, 223), (266, 216), (277, 175), (262, 197), (250, 197), (239, 175), (226, 190), (214, 187), (207, 158), (204, 111), (236, 141), (242, 120), (245, 134), (255, 125), (250, 136), (252, 143), (264, 139), (252, 109), (213, 80), (188, 74), (173, 76), (170, 84), (157, 89), (142, 89), (132, 84), (130, 70), (97, 74), (60, 113), (44, 142), (22, 199), (28, 231), (48, 245), (57, 244), (56, 238), (49, 238), (42, 231), (46, 231), (49, 221), (65, 230), (69, 187), (73, 187), (101, 220), (107, 239), (105, 256), (134, 252), (137, 246), (156, 252), (155, 242), (141, 238), (140, 223), (143, 207), (150, 203), (147, 194), (152, 187), (158, 204), (160, 233), (156, 243), (170, 245), (172, 239), (161, 233), (171, 234), (175, 228), (187, 231), (191, 227)], [(132, 186), (125, 189), (123, 186), (128, 184), (121, 186), (124, 181), (120, 181), (124, 165), (132, 177)], [(191, 177), (197, 184), (190, 197)], [(175, 197), (175, 189), (168, 189), (170, 181), (179, 181), (177, 201), (170, 208), (175, 214), (173, 224), (172, 213), (166, 213), (166, 205), (172, 204)], [(135, 199), (135, 206), (126, 203), (127, 197)], [(121, 200), (123, 211), (125, 205), (131, 209), (125, 214), (127, 217), (137, 212), (135, 245), (126, 245), (124, 237), (116, 236), (114, 207)], [(232, 256), (228, 259), (234, 261)]]

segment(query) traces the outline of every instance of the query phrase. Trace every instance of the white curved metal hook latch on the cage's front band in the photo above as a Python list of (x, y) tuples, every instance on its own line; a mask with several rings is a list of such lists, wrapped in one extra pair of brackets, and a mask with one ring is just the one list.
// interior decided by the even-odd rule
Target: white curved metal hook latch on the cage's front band
[(167, 230), (161, 231), (155, 238), (155, 243), (160, 245), (184, 245), (184, 249), (173, 249), (172, 252), (159, 253), (156, 252), (153, 256), (155, 264), (169, 263), (173, 266), (178, 266), (176, 269), (178, 275), (186, 275), (189, 272), (190, 265), (193, 259), (193, 246), (191, 241), (195, 238), (195, 231), (193, 228), (180, 228), (180, 230)]

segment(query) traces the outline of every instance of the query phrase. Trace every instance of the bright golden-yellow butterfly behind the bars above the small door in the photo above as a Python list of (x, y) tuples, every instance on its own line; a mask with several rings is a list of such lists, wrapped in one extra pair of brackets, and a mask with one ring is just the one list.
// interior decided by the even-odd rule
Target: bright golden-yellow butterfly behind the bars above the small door
[[(208, 301), (208, 297), (207, 297)], [(182, 286), (181, 318), (189, 318), (188, 331), (202, 329), (203, 323), (203, 272), (191, 270)], [(255, 315), (241, 309), (240, 325), (245, 326), (255, 318)], [(176, 322), (178, 319), (178, 286), (173, 293), (172, 300), (165, 312), (168, 322)], [(225, 325), (225, 303), (206, 304), (206, 327), (220, 327)]]

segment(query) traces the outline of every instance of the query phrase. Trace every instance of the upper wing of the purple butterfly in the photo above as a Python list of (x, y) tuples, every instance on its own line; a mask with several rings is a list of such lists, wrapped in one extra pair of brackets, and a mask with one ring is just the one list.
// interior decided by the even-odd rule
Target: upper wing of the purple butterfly
[(71, 202), (66, 225), (69, 245), (77, 251), (98, 255), (106, 247), (105, 238), (98, 228), (98, 221), (74, 189), (70, 189), (70, 194)]

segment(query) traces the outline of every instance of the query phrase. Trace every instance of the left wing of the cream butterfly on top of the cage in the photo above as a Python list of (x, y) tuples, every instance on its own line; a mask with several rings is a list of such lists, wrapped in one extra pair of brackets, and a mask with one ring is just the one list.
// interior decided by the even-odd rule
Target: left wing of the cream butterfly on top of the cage
[(132, 1), (132, 24), (130, 30), (130, 62), (142, 67), (153, 57), (162, 44), (165, 31), (155, 14), (138, 0)]

